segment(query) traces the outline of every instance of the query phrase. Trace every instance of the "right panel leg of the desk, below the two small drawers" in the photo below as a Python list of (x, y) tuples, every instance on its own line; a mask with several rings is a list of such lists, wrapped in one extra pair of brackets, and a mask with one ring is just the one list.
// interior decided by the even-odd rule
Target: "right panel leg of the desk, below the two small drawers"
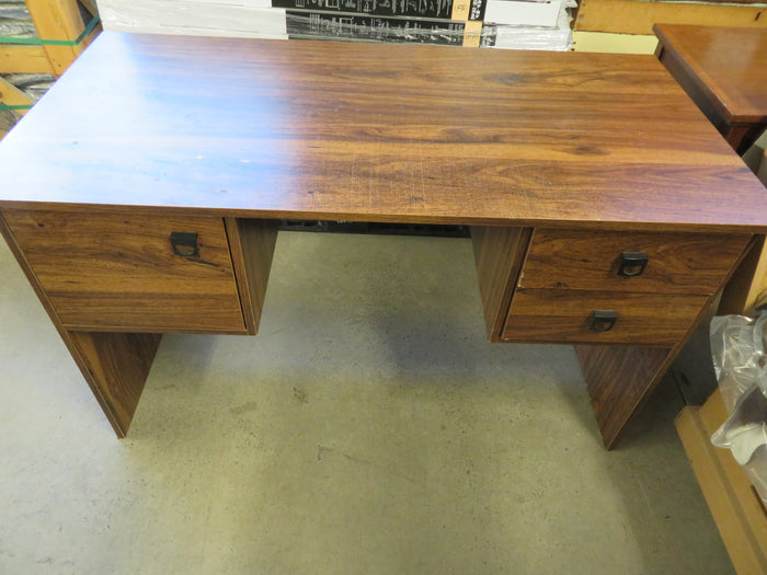
[(575, 346), (607, 449), (653, 392), (673, 359), (667, 347)]

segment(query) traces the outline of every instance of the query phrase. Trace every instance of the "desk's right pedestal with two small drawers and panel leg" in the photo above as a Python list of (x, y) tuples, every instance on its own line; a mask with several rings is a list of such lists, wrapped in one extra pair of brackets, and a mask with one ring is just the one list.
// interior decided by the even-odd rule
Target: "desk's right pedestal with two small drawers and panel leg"
[(616, 445), (751, 235), (474, 228), (491, 342), (572, 343)]

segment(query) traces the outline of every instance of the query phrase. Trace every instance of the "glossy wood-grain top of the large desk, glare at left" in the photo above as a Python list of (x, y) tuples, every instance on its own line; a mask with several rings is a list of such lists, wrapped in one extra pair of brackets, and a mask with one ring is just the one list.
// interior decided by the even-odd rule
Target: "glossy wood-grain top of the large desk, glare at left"
[(106, 32), (0, 174), (0, 208), (767, 230), (652, 56)]

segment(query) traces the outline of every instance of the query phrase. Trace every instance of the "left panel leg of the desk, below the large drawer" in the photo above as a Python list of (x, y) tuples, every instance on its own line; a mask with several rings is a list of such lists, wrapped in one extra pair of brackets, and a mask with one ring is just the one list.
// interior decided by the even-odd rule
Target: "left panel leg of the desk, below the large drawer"
[(62, 336), (115, 433), (125, 437), (162, 334), (65, 332)]

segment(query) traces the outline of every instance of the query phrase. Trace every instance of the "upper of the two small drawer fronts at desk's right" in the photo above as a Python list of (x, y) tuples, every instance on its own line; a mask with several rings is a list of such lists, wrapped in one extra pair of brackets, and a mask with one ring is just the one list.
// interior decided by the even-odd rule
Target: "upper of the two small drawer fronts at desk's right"
[[(711, 295), (749, 239), (751, 235), (536, 229), (518, 286)], [(641, 275), (619, 275), (623, 252), (648, 255)], [(637, 271), (626, 268), (628, 273)]]

